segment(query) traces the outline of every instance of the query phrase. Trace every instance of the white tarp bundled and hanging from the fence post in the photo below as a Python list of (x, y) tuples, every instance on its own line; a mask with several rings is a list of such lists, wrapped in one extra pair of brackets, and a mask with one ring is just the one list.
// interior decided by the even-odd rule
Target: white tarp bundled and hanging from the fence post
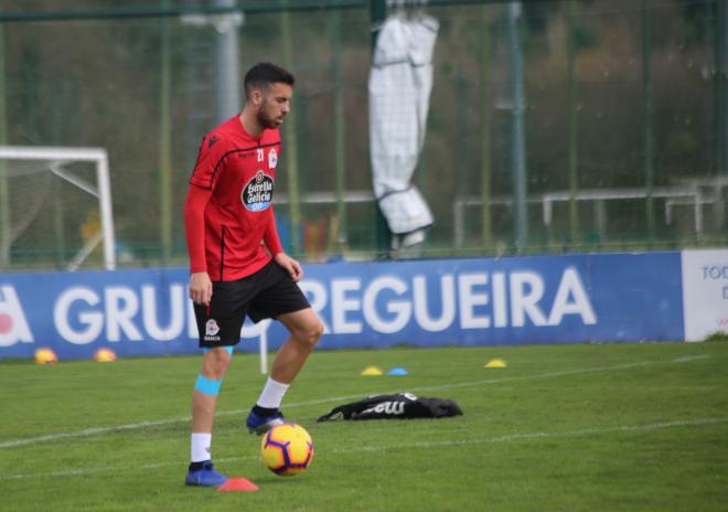
[(424, 239), (432, 213), (410, 183), (425, 143), (432, 89), (435, 18), (389, 15), (377, 38), (370, 73), (370, 152), (374, 194), (389, 231), (403, 245)]

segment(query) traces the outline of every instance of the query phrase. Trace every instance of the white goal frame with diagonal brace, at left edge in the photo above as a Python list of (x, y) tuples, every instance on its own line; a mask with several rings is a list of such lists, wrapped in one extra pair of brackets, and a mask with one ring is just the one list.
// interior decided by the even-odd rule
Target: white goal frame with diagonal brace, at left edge
[[(95, 168), (95, 181), (84, 178), (79, 172), (71, 169), (78, 162), (87, 162)], [(2, 239), (0, 246), (8, 252), (13, 242), (14, 233), (10, 217), (10, 203), (22, 201), (13, 190), (13, 178), (31, 173), (51, 173), (65, 182), (98, 199), (98, 218), (100, 230), (85, 241), (84, 246), (67, 264), (68, 270), (76, 270), (92, 252), (103, 243), (104, 267), (108, 270), (116, 268), (116, 243), (114, 235), (114, 215), (111, 212), (111, 184), (109, 180), (108, 154), (101, 148), (65, 148), (65, 147), (30, 147), (30, 146), (0, 146), (0, 181), (2, 186), (0, 202), (6, 204), (0, 211), (2, 223)], [(22, 205), (21, 205), (22, 206)], [(29, 224), (32, 220), (26, 221)], [(23, 228), (15, 228), (22, 232)]]

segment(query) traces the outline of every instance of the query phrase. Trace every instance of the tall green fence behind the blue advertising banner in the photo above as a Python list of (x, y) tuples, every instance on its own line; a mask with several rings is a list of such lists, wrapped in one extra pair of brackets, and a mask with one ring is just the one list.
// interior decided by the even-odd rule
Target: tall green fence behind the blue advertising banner
[[(440, 31), (415, 174), (436, 222), (421, 246), (387, 250), (367, 119), (385, 3), (3, 1), (0, 145), (106, 148), (119, 264), (184, 265), (188, 179), (216, 122), (218, 32), (205, 17), (242, 12), (242, 72), (269, 60), (297, 75), (276, 212), (304, 260), (726, 244), (725, 0), (522, 2), (521, 153), (514, 2), (440, 0), (424, 8)], [(0, 162), (0, 269), (62, 267), (97, 225), (92, 203), (42, 175)]]

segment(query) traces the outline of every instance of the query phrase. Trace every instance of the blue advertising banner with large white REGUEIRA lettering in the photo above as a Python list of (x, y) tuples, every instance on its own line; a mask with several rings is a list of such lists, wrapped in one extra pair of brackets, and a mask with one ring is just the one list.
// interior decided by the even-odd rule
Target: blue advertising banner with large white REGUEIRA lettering
[[(306, 265), (323, 349), (683, 340), (681, 253)], [(185, 269), (0, 276), (0, 358), (197, 352)], [(246, 328), (249, 329), (249, 328)], [(248, 335), (255, 334), (246, 331)], [(278, 322), (269, 348), (286, 338)], [(240, 345), (257, 351), (257, 340)]]

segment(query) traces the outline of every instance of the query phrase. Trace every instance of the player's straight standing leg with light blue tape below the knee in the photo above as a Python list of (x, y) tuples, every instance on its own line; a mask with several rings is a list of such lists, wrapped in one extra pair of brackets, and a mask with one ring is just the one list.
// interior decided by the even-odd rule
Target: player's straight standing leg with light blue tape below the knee
[(211, 444), (217, 395), (232, 355), (232, 346), (210, 349), (203, 355), (192, 394), (191, 463), (185, 479), (189, 486), (220, 486), (226, 480), (212, 465)]

